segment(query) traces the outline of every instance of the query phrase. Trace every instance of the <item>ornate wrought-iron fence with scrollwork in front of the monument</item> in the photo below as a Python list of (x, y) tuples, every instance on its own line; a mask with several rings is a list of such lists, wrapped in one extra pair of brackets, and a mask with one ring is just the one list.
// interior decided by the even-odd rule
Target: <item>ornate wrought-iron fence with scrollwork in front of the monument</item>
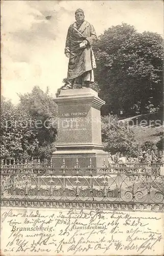
[(159, 163), (112, 164), (61, 168), (50, 162), (14, 161), (1, 164), (1, 205), (23, 207), (75, 207), (117, 210), (164, 209), (164, 177)]

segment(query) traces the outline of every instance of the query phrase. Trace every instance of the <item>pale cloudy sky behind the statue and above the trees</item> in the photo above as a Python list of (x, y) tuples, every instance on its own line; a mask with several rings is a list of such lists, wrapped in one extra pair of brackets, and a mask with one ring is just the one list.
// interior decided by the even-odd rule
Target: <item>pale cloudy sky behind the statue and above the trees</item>
[(68, 27), (81, 8), (97, 35), (127, 23), (163, 36), (163, 1), (1, 1), (1, 94), (19, 102), (34, 86), (55, 97), (67, 77)]

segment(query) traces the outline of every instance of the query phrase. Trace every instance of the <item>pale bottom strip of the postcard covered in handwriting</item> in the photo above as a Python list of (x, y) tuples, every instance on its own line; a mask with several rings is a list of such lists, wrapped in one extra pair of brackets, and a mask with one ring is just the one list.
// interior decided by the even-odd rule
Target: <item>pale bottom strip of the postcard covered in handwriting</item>
[(2, 236), (5, 230), (8, 231), (3, 236), (3, 252), (5, 255), (11, 252), (18, 255), (41, 255), (42, 252), (46, 255), (89, 255), (94, 251), (96, 255), (107, 255), (111, 251), (119, 254), (125, 250), (129, 255), (130, 252), (151, 255), (163, 240), (161, 231), (152, 229), (160, 223), (160, 218), (136, 216), (99, 209), (4, 210)]

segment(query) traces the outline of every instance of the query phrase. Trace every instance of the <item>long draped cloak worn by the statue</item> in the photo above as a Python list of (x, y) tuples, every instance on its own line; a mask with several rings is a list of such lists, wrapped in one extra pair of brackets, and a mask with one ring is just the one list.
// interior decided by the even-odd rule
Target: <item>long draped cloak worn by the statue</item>
[[(77, 28), (76, 22), (69, 27), (65, 48), (65, 53), (70, 53), (67, 80), (76, 78), (96, 68), (91, 47), (96, 38), (94, 27), (87, 21), (84, 21), (79, 28)], [(86, 48), (80, 49), (79, 44), (83, 40), (87, 40), (88, 45)]]

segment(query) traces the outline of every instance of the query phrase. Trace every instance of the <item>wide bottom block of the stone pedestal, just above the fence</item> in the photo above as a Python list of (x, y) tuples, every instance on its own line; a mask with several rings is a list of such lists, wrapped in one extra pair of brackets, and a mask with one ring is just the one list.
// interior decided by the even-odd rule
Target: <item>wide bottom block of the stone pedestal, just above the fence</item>
[[(78, 161), (78, 163), (77, 163)], [(92, 162), (92, 167), (101, 168), (108, 166), (106, 152), (102, 150), (74, 150), (74, 151), (56, 151), (52, 155), (52, 165), (61, 168), (63, 163), (65, 167), (74, 168), (78, 164), (79, 168), (88, 168)]]

